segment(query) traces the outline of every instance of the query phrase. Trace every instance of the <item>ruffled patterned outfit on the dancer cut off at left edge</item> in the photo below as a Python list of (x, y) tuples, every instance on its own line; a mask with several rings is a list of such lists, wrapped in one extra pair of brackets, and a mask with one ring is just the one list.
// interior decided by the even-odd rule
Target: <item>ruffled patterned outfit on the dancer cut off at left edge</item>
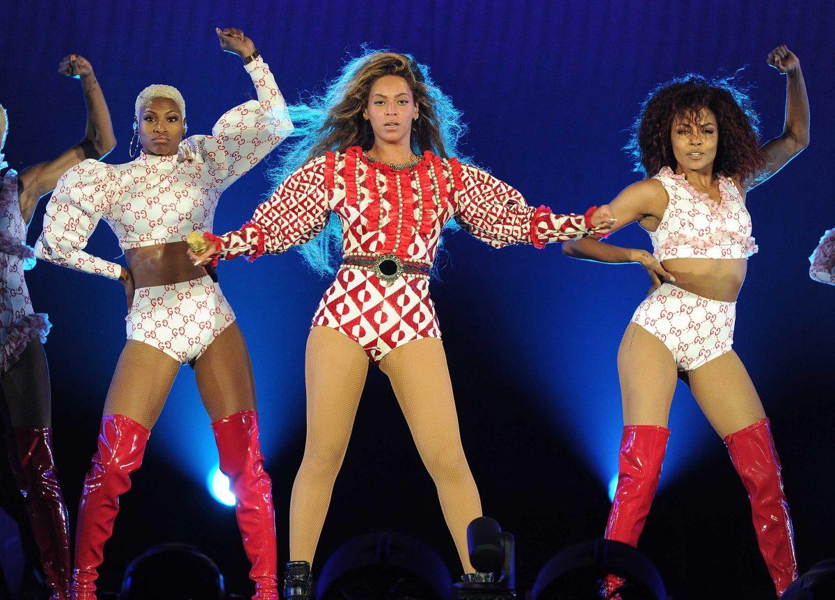
[[(0, 154), (0, 159), (2, 159)], [(47, 340), (47, 315), (32, 310), (23, 271), (35, 265), (26, 245), (26, 224), (20, 214), (18, 174), (9, 169), (0, 179), (0, 367), (8, 371), (29, 340)]]

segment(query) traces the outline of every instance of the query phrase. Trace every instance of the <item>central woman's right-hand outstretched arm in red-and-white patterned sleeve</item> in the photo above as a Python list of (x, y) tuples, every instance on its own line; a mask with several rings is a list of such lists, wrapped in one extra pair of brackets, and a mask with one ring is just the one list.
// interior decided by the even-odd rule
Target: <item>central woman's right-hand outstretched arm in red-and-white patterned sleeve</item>
[(450, 160), (456, 193), (455, 219), (463, 229), (494, 248), (580, 239), (607, 233), (613, 221), (606, 209), (590, 208), (585, 214), (552, 214), (529, 206), (522, 194), (482, 169)]

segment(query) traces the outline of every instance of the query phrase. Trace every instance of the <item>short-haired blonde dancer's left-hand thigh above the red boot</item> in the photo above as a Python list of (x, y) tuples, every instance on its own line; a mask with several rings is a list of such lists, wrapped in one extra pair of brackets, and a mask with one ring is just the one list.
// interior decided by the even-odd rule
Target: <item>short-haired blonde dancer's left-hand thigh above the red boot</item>
[(150, 430), (165, 405), (180, 362), (155, 346), (128, 340), (110, 381), (104, 415), (124, 415)]

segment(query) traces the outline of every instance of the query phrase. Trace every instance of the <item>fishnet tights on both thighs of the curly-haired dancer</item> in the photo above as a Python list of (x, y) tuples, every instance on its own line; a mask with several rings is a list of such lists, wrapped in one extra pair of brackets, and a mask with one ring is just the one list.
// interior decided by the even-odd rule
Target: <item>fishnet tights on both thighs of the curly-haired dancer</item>
[[(625, 424), (667, 426), (679, 376), (670, 350), (655, 335), (630, 323), (618, 350), (618, 372)], [(723, 438), (766, 416), (751, 377), (733, 350), (681, 374), (681, 379)]]

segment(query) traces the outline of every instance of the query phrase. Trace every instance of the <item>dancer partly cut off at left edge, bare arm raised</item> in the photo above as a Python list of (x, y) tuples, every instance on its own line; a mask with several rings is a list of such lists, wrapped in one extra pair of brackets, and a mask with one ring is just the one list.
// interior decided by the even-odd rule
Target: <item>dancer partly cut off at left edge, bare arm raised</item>
[[(0, 377), (3, 421), (12, 471), (23, 494), (33, 537), (52, 600), (68, 598), (69, 527), (52, 448), (52, 391), (43, 344), (50, 328), (47, 315), (36, 313), (23, 272), (35, 265), (26, 245), (29, 219), (38, 200), (53, 190), (64, 171), (83, 159), (100, 159), (116, 145), (110, 113), (88, 60), (63, 58), (59, 73), (81, 80), (87, 105), (84, 139), (58, 158), (0, 178)], [(0, 106), (0, 153), (8, 133)], [(0, 154), (0, 169), (8, 166)]]

